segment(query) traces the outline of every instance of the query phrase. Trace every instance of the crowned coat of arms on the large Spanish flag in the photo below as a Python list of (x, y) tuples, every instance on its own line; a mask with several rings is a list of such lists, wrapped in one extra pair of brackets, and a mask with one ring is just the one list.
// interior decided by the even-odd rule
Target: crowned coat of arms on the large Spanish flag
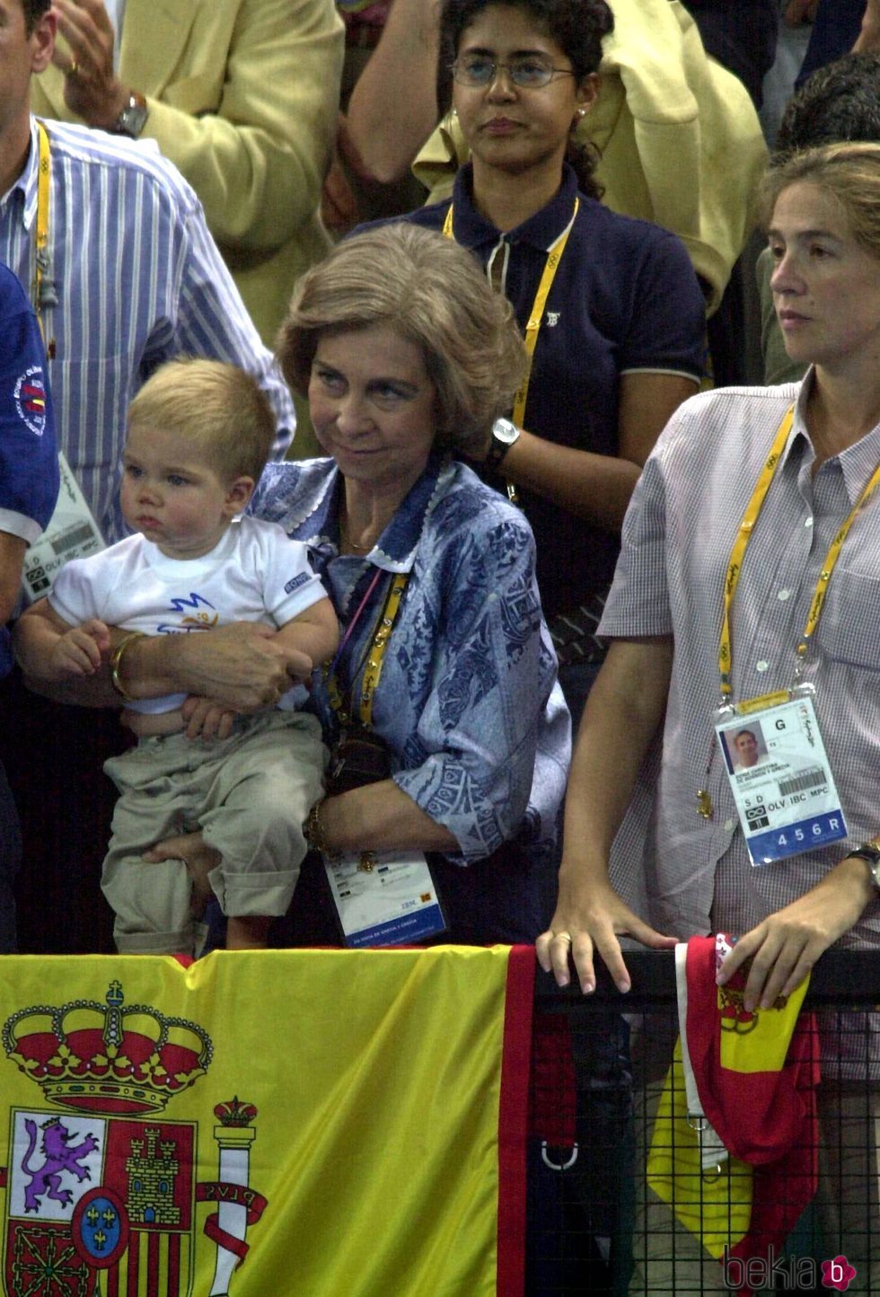
[(257, 1109), (237, 1097), (215, 1106), (214, 1182), (197, 1178), (198, 1124), (166, 1118), (210, 1067), (207, 1031), (126, 1004), (113, 981), (102, 1004), (17, 1010), (3, 1047), (51, 1105), (9, 1109), (4, 1293), (188, 1297), (198, 1201), (222, 1204), (203, 1232), (216, 1249), (210, 1292), (228, 1293), (264, 1205), (248, 1184)]

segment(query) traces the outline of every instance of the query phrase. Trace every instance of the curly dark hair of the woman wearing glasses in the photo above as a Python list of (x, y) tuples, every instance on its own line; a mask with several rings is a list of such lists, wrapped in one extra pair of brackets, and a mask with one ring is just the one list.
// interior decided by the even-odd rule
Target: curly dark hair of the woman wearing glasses
[[(442, 0), (437, 65), (437, 102), (441, 113), (447, 113), (452, 102), (450, 66), (457, 57), (461, 35), (483, 9), (492, 5), (527, 13), (535, 26), (543, 29), (570, 60), (578, 80), (599, 71), (603, 38), (614, 30), (614, 14), (607, 0)], [(579, 144), (572, 136), (566, 161), (577, 171), (583, 192), (600, 198), (603, 191), (594, 178), (599, 162), (595, 147)]]

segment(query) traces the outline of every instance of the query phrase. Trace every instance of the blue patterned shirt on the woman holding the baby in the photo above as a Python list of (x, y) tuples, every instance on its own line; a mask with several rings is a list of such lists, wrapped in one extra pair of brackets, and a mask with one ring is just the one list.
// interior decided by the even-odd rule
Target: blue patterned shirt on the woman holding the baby
[[(455, 835), (459, 864), (509, 840), (548, 848), (570, 722), (529, 524), (468, 467), (432, 457), (376, 547), (340, 555), (341, 485), (332, 459), (270, 464), (251, 507), (306, 542), (343, 634), (377, 568), (410, 573), (373, 699), (395, 783)], [(355, 700), (388, 586), (380, 577), (337, 668)]]

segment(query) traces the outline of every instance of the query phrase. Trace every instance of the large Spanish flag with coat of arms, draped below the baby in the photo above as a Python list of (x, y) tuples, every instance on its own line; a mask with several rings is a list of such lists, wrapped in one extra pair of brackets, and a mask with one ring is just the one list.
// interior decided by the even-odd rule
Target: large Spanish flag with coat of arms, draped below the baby
[(515, 1297), (534, 951), (6, 956), (9, 1297)]

